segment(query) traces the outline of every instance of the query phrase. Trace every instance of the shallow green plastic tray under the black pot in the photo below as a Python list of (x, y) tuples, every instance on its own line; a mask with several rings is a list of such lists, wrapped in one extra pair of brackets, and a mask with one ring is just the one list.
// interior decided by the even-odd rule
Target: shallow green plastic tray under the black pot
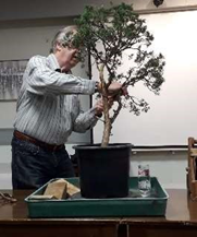
[[(50, 180), (54, 181), (56, 179)], [(67, 178), (79, 186), (78, 178)], [(168, 193), (156, 177), (151, 177), (151, 195), (141, 198), (137, 189), (137, 177), (130, 178), (130, 195), (118, 199), (84, 199), (76, 193), (65, 200), (30, 200), (32, 195), (42, 194), (47, 185), (28, 195), (25, 201), (29, 217), (96, 217), (96, 216), (162, 216), (165, 215)]]

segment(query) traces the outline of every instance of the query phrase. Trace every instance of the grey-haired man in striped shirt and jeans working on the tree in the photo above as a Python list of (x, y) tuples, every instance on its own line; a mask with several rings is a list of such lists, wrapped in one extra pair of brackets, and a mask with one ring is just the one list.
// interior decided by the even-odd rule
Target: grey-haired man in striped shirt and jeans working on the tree
[[(13, 189), (34, 189), (51, 178), (73, 177), (74, 170), (64, 143), (72, 133), (91, 129), (103, 111), (101, 100), (81, 111), (78, 94), (100, 90), (95, 81), (71, 74), (78, 63), (79, 49), (73, 48), (69, 26), (56, 35), (48, 57), (35, 56), (27, 63), (16, 105), (12, 140)], [(109, 93), (119, 93), (113, 83)]]

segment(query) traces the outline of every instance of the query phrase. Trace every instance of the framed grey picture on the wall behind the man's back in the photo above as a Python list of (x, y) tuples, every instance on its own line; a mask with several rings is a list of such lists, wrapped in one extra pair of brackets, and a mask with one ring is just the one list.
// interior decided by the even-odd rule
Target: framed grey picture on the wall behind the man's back
[(0, 102), (17, 99), (27, 61), (0, 60)]

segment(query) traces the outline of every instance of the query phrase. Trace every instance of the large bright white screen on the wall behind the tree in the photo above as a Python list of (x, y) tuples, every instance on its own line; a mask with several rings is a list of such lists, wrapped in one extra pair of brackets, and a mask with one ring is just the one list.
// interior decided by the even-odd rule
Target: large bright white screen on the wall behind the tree
[[(197, 32), (194, 28), (197, 11), (147, 14), (140, 17), (146, 20), (148, 31), (153, 34), (151, 49), (164, 56), (165, 81), (159, 96), (143, 82), (128, 88), (131, 95), (144, 98), (150, 109), (140, 116), (122, 109), (113, 123), (111, 142), (186, 145), (189, 137), (197, 138)], [(126, 58), (120, 71), (125, 73), (132, 62)], [(100, 141), (101, 126), (96, 128), (95, 133), (96, 142)]]

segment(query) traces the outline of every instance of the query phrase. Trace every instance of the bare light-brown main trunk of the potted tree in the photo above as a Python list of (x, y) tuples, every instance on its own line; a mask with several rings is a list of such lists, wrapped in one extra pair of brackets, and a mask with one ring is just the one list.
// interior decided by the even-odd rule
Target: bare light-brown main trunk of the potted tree
[(110, 120), (110, 115), (109, 115), (109, 103), (108, 103), (108, 88), (104, 83), (103, 69), (104, 69), (104, 64), (101, 64), (101, 67), (99, 68), (99, 79), (100, 79), (101, 88), (102, 88), (101, 94), (102, 94), (103, 115), (104, 115), (104, 129), (102, 133), (102, 142), (101, 142), (102, 147), (109, 144), (110, 133), (111, 133), (111, 120)]

